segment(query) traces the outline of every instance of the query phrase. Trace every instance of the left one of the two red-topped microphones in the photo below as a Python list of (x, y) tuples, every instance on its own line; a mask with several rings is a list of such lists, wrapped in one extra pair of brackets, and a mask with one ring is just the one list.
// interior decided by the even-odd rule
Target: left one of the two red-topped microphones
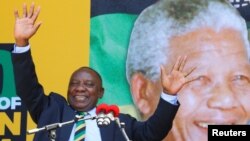
[(104, 118), (106, 117), (106, 113), (108, 110), (108, 105), (103, 103), (96, 107), (96, 122), (98, 126), (104, 126), (108, 125), (107, 121), (104, 121)]

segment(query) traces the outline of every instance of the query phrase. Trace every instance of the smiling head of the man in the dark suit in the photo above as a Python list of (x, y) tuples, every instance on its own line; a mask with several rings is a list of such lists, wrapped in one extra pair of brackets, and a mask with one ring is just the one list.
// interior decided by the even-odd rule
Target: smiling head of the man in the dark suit
[(100, 76), (89, 68), (76, 70), (68, 87), (68, 102), (77, 111), (88, 111), (94, 108), (104, 89)]

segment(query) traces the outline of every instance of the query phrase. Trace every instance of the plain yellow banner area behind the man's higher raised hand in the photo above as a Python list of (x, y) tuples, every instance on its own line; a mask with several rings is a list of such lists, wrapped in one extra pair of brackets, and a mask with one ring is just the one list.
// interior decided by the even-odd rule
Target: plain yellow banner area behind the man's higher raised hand
[[(88, 66), (90, 0), (1, 0), (0, 43), (15, 42), (14, 10), (22, 15), (22, 4), (29, 8), (32, 2), (41, 7), (37, 21), (42, 21), (42, 25), (30, 40), (39, 81), (46, 93), (54, 91), (66, 96), (71, 73)], [(35, 127), (29, 118), (27, 129)], [(32, 137), (27, 136), (27, 140)]]

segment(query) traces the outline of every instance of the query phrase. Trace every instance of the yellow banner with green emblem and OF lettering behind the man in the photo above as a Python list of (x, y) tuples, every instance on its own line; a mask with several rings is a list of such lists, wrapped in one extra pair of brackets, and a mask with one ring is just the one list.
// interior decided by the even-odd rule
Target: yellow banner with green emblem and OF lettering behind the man
[[(39, 81), (45, 92), (66, 96), (71, 73), (89, 64), (89, 0), (0, 1), (0, 140), (31, 141), (26, 131), (36, 125), (16, 95), (10, 50), (14, 44), (14, 9), (22, 4), (41, 6), (42, 25), (30, 40)], [(50, 115), (53, 116), (53, 115)]]

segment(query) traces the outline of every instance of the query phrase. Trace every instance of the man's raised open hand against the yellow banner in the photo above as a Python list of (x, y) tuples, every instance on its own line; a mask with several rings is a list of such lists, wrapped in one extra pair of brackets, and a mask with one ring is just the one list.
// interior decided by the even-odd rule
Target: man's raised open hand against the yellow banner
[(29, 43), (29, 39), (36, 33), (41, 25), (41, 22), (36, 23), (36, 19), (39, 15), (40, 7), (35, 9), (35, 4), (32, 3), (30, 9), (27, 10), (27, 5), (23, 4), (23, 14), (19, 15), (15, 10), (15, 29), (14, 37), (17, 46), (26, 46)]

